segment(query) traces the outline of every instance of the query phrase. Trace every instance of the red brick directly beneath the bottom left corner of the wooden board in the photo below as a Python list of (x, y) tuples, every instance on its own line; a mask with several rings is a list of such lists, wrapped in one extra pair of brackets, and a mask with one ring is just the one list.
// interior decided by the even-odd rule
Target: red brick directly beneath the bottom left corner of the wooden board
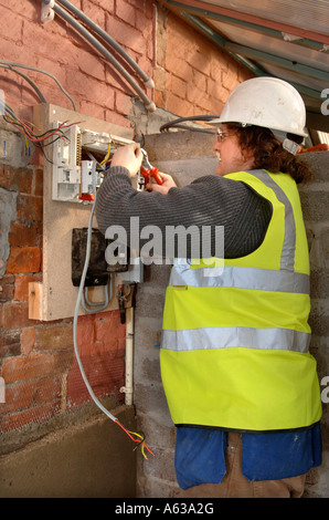
[(39, 350), (67, 349), (73, 345), (72, 324), (43, 325), (35, 329), (35, 346)]

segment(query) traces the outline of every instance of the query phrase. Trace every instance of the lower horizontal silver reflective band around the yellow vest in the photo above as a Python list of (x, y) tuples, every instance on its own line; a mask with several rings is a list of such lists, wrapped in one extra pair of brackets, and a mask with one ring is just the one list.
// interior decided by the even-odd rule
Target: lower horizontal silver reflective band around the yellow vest
[(198, 351), (206, 349), (284, 350), (306, 353), (310, 334), (290, 329), (252, 329), (246, 326), (216, 326), (162, 331), (161, 349)]

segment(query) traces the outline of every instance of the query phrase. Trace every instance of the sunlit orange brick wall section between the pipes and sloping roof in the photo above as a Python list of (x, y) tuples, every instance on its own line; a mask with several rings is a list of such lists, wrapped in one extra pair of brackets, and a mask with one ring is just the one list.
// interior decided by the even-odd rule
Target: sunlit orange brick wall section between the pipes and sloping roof
[(220, 114), (252, 74), (172, 13), (159, 11), (156, 104), (179, 116)]

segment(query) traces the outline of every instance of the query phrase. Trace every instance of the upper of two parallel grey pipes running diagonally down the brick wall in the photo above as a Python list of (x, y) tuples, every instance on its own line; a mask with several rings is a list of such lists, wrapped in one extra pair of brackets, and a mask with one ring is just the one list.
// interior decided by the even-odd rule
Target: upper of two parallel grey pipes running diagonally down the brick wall
[(99, 25), (97, 25), (93, 20), (91, 20), (83, 11), (77, 9), (67, 0), (57, 0), (59, 3), (67, 8), (71, 12), (76, 14), (83, 22), (85, 22), (93, 31), (95, 31), (99, 37), (102, 37), (107, 43), (109, 43), (115, 51), (117, 51), (128, 63), (129, 65), (139, 74), (142, 79), (145, 86), (153, 89), (155, 83), (151, 77), (149, 77), (142, 69), (136, 63), (135, 60), (119, 45), (106, 31), (104, 31)]

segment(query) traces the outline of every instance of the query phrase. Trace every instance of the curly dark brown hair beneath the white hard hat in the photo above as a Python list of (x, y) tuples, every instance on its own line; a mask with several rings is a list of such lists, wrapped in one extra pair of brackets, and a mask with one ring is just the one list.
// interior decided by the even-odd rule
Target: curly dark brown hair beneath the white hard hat
[[(242, 150), (253, 150), (255, 169), (267, 169), (273, 174), (278, 171), (289, 174), (297, 184), (312, 179), (312, 171), (308, 164), (284, 149), (269, 128), (254, 125), (242, 127), (234, 124), (227, 124), (227, 127), (236, 132)], [(303, 141), (295, 135), (288, 134), (287, 137), (297, 143)]]

